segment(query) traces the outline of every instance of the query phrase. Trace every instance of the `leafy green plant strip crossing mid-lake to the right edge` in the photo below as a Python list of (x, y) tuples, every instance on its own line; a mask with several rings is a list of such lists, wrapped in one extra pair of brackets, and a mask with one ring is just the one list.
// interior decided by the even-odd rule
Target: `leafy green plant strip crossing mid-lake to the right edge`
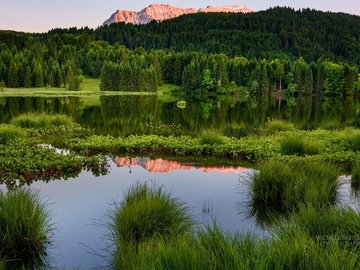
[[(289, 139), (290, 138), (290, 139)], [(297, 139), (297, 138), (301, 138)], [(93, 155), (98, 153), (165, 154), (174, 156), (214, 156), (239, 161), (259, 162), (269, 159), (280, 161), (311, 160), (336, 163), (346, 169), (360, 160), (358, 141), (360, 131), (349, 129), (290, 130), (276, 133), (262, 131), (237, 139), (206, 134), (206, 137), (163, 137), (157, 135), (90, 136), (69, 140), (69, 149)]]

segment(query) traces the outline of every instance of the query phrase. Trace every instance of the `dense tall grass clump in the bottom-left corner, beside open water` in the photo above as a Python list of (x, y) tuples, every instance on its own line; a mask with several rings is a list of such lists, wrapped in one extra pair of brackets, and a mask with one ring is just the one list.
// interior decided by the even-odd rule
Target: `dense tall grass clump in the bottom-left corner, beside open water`
[(51, 233), (46, 208), (30, 190), (0, 191), (0, 258), (11, 268), (44, 263)]

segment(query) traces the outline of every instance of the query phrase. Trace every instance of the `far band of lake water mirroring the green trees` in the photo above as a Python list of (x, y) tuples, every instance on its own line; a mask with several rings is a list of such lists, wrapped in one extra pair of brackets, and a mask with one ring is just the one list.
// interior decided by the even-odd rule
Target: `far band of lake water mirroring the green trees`
[[(186, 103), (179, 108), (178, 101)], [(196, 95), (196, 96), (81, 96), (3, 97), (0, 122), (26, 112), (67, 114), (99, 134), (179, 135), (198, 134), (203, 129), (221, 132), (284, 119), (305, 129), (335, 123), (359, 122), (359, 99), (300, 96), (288, 98)], [(240, 132), (239, 134), (243, 134)], [(234, 133), (236, 135), (236, 132)]]

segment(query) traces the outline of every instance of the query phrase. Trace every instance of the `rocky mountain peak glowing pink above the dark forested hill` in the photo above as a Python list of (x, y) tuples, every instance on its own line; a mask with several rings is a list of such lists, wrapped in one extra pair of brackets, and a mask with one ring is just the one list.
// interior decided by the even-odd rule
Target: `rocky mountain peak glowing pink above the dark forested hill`
[(112, 23), (131, 23), (131, 24), (147, 24), (153, 20), (165, 21), (179, 17), (184, 14), (193, 13), (210, 13), (210, 12), (226, 12), (226, 13), (250, 13), (253, 12), (251, 9), (243, 6), (222, 6), (213, 7), (208, 6), (206, 8), (195, 9), (195, 8), (177, 8), (170, 5), (163, 4), (152, 4), (143, 10), (127, 11), (118, 10), (111, 17), (104, 22), (103, 25), (110, 25)]

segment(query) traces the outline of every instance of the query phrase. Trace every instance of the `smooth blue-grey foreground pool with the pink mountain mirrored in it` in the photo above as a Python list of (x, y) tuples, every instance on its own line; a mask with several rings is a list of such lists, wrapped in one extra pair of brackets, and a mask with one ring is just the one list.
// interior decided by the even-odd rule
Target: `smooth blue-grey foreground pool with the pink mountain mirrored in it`
[(164, 159), (113, 158), (111, 171), (95, 177), (83, 172), (75, 179), (36, 182), (52, 210), (55, 227), (50, 258), (60, 268), (102, 268), (110, 259), (107, 224), (114, 202), (137, 182), (164, 185), (190, 208), (199, 225), (216, 221), (225, 231), (266, 235), (248, 216), (246, 179), (252, 170), (245, 167), (180, 163)]

